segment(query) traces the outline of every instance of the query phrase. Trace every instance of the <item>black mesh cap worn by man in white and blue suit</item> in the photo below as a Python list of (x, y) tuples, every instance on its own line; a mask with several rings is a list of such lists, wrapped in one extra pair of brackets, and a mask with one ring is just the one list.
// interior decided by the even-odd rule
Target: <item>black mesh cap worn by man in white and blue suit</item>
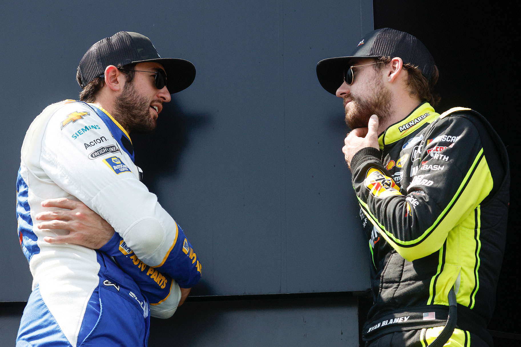
[(96, 77), (102, 76), (109, 65), (122, 67), (145, 61), (157, 61), (163, 65), (170, 94), (188, 88), (195, 79), (195, 67), (190, 61), (161, 58), (148, 37), (120, 31), (93, 44), (81, 58), (78, 66), (80, 87), (83, 89)]

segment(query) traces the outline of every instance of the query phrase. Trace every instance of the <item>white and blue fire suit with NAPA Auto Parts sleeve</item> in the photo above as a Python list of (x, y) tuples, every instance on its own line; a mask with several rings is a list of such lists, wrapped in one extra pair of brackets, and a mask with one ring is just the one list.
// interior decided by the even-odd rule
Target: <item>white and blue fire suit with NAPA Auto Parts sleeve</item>
[[(183, 230), (140, 182), (127, 132), (99, 106), (50, 105), (32, 122), (17, 179), (18, 236), (33, 275), (17, 346), (146, 346), (150, 316), (176, 311), (201, 277)], [(49, 198), (80, 200), (116, 233), (100, 250), (45, 236)]]

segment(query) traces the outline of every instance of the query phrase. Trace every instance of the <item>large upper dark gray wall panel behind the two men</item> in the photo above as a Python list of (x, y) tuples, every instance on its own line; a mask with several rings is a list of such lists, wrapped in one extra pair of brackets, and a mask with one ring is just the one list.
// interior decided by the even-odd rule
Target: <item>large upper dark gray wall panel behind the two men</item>
[(119, 30), (141, 32), (162, 56), (197, 69), (193, 85), (165, 107), (155, 137), (132, 136), (145, 183), (203, 264), (193, 293), (368, 288), (368, 251), (341, 152), (341, 101), (320, 87), (315, 66), (348, 54), (373, 29), (371, 1), (93, 1), (81, 11), (53, 4), (0, 11), (8, 81), (0, 85), (0, 301), (30, 293), (13, 203), (23, 135), (46, 105), (77, 97), (79, 59)]

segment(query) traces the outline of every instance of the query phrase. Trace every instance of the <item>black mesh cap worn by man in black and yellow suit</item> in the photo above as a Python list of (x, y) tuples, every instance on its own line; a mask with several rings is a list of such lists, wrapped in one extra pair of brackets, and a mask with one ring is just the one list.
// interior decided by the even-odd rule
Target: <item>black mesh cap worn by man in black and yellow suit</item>
[(372, 31), (362, 38), (349, 57), (324, 59), (317, 64), (320, 85), (331, 94), (336, 94), (344, 82), (344, 69), (354, 58), (400, 57), (404, 64), (417, 66), (421, 74), (430, 81), (434, 71), (434, 58), (416, 37), (403, 31), (383, 28)]

